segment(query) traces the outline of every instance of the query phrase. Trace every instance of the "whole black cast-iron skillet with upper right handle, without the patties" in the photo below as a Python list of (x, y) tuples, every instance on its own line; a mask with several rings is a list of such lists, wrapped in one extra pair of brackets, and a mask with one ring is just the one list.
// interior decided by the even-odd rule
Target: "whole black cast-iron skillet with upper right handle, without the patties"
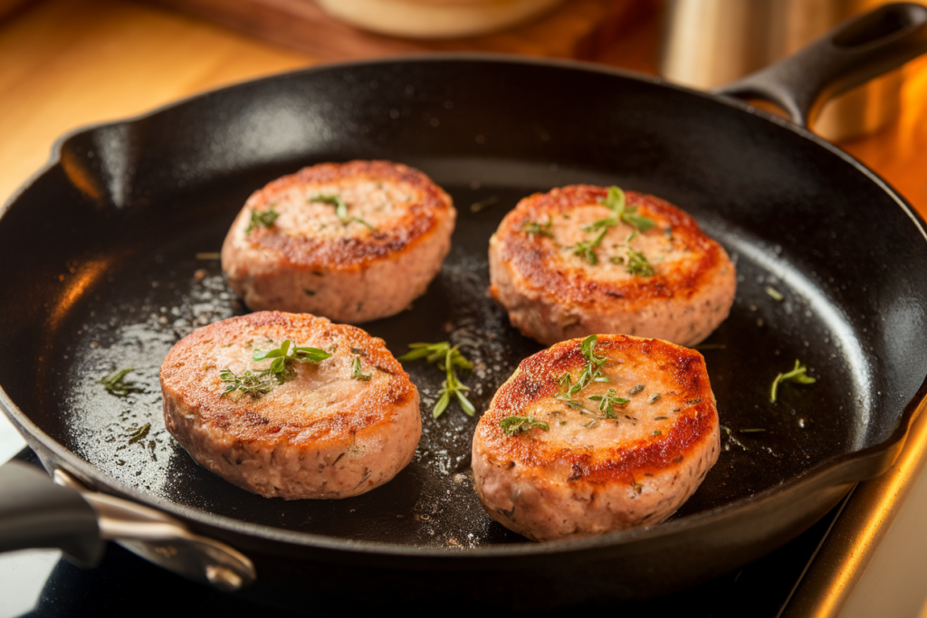
[[(925, 24), (927, 8), (884, 7), (727, 92), (772, 98), (803, 121), (820, 93), (927, 51)], [(543, 544), (492, 523), (469, 472), (476, 419), (454, 406), (430, 418), (441, 375), (423, 363), (406, 366), (423, 395), (413, 463), (361, 497), (253, 496), (171, 439), (161, 359), (195, 326), (247, 310), (219, 262), (197, 254), (218, 251), (255, 188), (350, 158), (413, 165), (453, 196), (459, 222), (438, 278), (413, 309), (365, 327), (397, 355), (415, 341), (461, 344), (477, 365), (464, 377), (477, 410), (540, 349), (486, 294), (489, 234), (520, 197), (617, 184), (687, 209), (728, 249), (737, 298), (703, 349), (730, 435), (669, 522)], [(728, 572), (883, 473), (925, 393), (927, 241), (900, 196), (788, 121), (577, 63), (445, 56), (321, 67), (75, 132), (6, 205), (0, 263), (0, 405), (45, 467), (240, 549), (257, 581), (239, 594), (317, 610), (345, 595), (371, 608), (552, 607)], [(818, 382), (783, 385), (770, 403), (773, 378), (795, 359)], [(98, 384), (125, 368), (143, 393), (116, 397)], [(18, 470), (2, 473), (7, 487), (19, 484)], [(0, 549), (52, 545), (95, 558), (93, 511), (75, 493), (60, 490), (79, 513), (62, 540), (11, 491)]]

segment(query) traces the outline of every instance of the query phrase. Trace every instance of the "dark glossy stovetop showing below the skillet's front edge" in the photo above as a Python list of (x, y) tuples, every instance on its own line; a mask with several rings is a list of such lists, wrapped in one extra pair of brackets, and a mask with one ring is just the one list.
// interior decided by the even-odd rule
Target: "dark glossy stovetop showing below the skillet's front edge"
[[(40, 465), (29, 449), (20, 452), (17, 459)], [(739, 571), (666, 597), (615, 603), (607, 609), (619, 610), (623, 618), (779, 616), (844, 502), (803, 535)], [(273, 615), (318, 615), (311, 612), (311, 598), (320, 593), (324, 594), (324, 590), (312, 590), (311, 582), (307, 582), (307, 612), (273, 608)], [(171, 574), (115, 543), (108, 544), (103, 561), (94, 569), (74, 566), (61, 559), (57, 551), (27, 550), (0, 555), (0, 618), (139, 613), (254, 618), (269, 609), (269, 604), (224, 594)], [(443, 613), (450, 609), (433, 611)], [(565, 609), (561, 608), (552, 613), (563, 612)]]

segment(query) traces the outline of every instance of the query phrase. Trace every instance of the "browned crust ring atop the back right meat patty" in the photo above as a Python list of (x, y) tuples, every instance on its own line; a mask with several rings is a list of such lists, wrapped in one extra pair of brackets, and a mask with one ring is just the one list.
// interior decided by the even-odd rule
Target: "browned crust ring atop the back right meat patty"
[[(685, 268), (669, 264), (654, 264), (655, 273), (648, 277), (628, 277), (623, 280), (577, 276), (562, 257), (563, 247), (548, 236), (524, 233), (528, 222), (560, 221), (559, 217), (575, 208), (598, 204), (608, 190), (589, 184), (576, 184), (534, 194), (521, 200), (502, 220), (497, 237), (503, 262), (511, 264), (522, 277), (521, 284), (532, 294), (549, 298), (559, 305), (594, 307), (607, 311), (614, 307), (632, 312), (661, 298), (689, 297), (705, 285), (723, 264), (729, 261), (724, 250), (705, 235), (688, 214), (668, 202), (634, 191), (626, 191), (629, 207), (655, 221), (654, 228), (643, 234), (664, 234), (672, 231), (672, 245), (682, 248), (695, 259), (687, 260)], [(603, 207), (603, 218), (608, 211)], [(490, 288), (494, 296), (497, 292)]]

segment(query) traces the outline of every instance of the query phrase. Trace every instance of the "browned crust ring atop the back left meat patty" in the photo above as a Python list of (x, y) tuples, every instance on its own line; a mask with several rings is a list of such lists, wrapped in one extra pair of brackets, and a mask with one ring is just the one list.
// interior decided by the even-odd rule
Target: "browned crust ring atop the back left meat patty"
[[(248, 198), (243, 215), (271, 208), (281, 195), (295, 188), (347, 179), (393, 183), (413, 197), (388, 228), (362, 229), (340, 238), (289, 235), (270, 228), (248, 233), (248, 241), (275, 252), (280, 259), (306, 269), (358, 271), (378, 259), (395, 259), (432, 233), (452, 210), (451, 197), (419, 170), (390, 161), (354, 160), (321, 163), (268, 183)], [(249, 216), (249, 214), (248, 214)]]

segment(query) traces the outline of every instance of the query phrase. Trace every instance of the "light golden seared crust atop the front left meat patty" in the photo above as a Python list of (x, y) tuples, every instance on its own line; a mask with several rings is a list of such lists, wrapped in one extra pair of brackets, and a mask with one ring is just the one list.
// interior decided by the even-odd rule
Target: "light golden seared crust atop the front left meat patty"
[[(220, 397), (224, 385), (219, 375), (224, 368), (210, 361), (210, 350), (241, 345), (272, 349), (285, 339), (294, 346), (324, 349), (335, 361), (337, 357), (352, 360), (360, 356), (364, 371), (375, 372), (375, 379), (367, 383), (370, 387), (365, 396), (351, 407), (318, 416), (307, 415), (298, 393), (291, 391), (298, 388), (298, 380), (279, 385), (264, 397)], [(319, 366), (309, 362), (294, 364), (297, 372), (319, 371)], [(348, 444), (359, 432), (389, 423), (393, 410), (417, 397), (409, 374), (382, 339), (354, 326), (279, 311), (250, 313), (197, 329), (171, 349), (161, 365), (160, 377), (175, 404), (197, 410), (199, 423), (214, 426), (231, 439), (271, 449), (278, 445)]]

